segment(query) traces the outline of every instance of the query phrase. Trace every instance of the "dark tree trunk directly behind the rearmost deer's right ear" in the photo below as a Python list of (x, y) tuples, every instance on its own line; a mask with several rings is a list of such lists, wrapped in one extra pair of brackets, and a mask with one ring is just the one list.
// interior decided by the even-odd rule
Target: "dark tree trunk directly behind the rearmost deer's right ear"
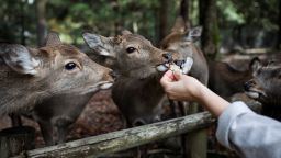
[(203, 26), (201, 44), (203, 53), (214, 58), (217, 50), (217, 23), (215, 0), (199, 0), (200, 24)]

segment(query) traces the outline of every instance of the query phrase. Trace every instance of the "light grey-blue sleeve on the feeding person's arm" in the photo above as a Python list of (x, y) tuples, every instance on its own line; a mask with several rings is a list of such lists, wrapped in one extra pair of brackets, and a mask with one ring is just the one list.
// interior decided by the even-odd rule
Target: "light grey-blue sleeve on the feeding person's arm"
[(281, 123), (256, 114), (244, 102), (232, 103), (218, 117), (218, 142), (246, 158), (281, 158)]

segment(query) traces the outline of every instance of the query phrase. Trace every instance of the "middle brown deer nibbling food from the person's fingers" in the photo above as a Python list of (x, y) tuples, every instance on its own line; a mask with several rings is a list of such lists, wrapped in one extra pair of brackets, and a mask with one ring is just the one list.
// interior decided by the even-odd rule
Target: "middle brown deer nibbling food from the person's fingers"
[[(83, 38), (93, 52), (114, 59), (112, 67), (119, 77), (112, 88), (112, 98), (128, 126), (157, 122), (161, 114), (165, 92), (159, 83), (167, 52), (151, 45), (143, 36), (123, 32), (116, 37), (85, 33)], [(173, 58), (184, 59), (173, 53)]]

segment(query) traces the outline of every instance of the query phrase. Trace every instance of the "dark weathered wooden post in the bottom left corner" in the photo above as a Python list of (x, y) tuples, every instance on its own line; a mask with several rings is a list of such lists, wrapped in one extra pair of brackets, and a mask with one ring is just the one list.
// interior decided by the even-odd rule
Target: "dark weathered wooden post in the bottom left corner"
[(0, 132), (0, 158), (19, 155), (35, 147), (35, 129), (30, 126), (5, 128)]

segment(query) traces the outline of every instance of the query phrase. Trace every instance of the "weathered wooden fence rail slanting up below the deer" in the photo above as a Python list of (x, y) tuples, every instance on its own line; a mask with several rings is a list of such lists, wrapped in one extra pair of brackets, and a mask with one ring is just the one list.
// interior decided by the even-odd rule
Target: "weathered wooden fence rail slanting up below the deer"
[(99, 157), (155, 140), (205, 128), (215, 122), (209, 112), (196, 113), (135, 128), (27, 150), (14, 158)]

